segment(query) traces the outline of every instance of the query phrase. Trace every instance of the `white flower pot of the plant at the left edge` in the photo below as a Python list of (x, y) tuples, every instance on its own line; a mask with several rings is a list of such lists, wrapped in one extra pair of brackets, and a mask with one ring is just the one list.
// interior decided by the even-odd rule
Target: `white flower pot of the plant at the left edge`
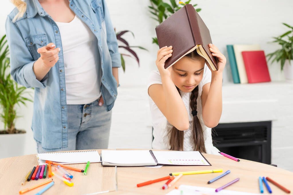
[(26, 133), (0, 134), (0, 158), (22, 156)]

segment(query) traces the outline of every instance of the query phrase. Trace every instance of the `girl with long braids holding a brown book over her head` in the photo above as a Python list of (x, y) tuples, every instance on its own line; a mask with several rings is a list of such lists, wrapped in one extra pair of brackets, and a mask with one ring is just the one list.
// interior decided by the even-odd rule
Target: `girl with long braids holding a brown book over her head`
[(159, 71), (151, 73), (148, 85), (154, 149), (219, 154), (212, 144), (211, 128), (217, 126), (222, 114), (226, 58), (216, 46), (209, 44), (209, 49), (218, 59), (218, 71), (212, 71), (196, 51), (165, 69), (172, 46), (158, 51)]

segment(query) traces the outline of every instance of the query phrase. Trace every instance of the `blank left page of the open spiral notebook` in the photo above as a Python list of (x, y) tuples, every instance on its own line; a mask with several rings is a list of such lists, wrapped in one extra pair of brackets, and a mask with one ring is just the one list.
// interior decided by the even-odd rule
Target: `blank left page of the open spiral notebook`
[(102, 161), (115, 164), (155, 163), (149, 150), (102, 150)]

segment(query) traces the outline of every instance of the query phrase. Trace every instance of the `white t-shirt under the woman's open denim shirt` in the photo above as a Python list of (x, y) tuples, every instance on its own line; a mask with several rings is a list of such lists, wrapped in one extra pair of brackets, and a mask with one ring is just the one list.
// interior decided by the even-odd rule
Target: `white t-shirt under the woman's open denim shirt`
[(67, 104), (91, 103), (101, 96), (98, 40), (76, 15), (69, 23), (56, 22), (62, 41)]

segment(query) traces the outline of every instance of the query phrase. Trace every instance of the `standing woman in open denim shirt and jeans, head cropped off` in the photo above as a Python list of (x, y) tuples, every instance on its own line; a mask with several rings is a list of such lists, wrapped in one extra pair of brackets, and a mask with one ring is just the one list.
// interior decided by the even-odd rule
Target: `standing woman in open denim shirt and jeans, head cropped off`
[(34, 87), (38, 152), (105, 149), (121, 66), (105, 0), (12, 0), (11, 75)]

